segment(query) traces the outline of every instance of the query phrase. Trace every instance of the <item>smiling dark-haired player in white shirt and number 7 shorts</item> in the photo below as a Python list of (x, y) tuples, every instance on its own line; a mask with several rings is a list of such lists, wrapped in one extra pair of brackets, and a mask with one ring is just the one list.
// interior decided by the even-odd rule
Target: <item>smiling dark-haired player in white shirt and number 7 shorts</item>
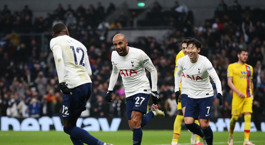
[[(211, 106), (213, 104), (213, 87), (209, 76), (213, 79), (217, 88), (219, 105), (222, 105), (221, 81), (211, 62), (199, 55), (200, 41), (191, 39), (187, 43), (188, 55), (177, 60), (177, 73), (175, 77), (175, 94), (179, 96), (180, 76), (186, 74), (188, 80), (188, 97), (184, 114), (184, 122), (187, 129), (203, 138), (203, 144), (213, 144), (213, 131), (209, 126), (211, 118)], [(200, 126), (195, 122), (199, 119)]]

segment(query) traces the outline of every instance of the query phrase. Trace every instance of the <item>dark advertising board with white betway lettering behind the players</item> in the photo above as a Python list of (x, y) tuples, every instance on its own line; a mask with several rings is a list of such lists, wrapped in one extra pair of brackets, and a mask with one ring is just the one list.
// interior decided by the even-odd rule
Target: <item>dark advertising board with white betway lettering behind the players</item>
[[(144, 129), (148, 130), (173, 130), (175, 117), (152, 118)], [(59, 116), (41, 118), (12, 118), (1, 117), (1, 131), (63, 131), (63, 125)], [(159, 124), (159, 126), (157, 125)], [(229, 130), (230, 118), (211, 119), (210, 126), (213, 132)], [(236, 122), (235, 130), (244, 132), (245, 122)], [(261, 131), (265, 132), (265, 122), (261, 122)], [(129, 130), (126, 117), (123, 118), (79, 118), (77, 126), (87, 131), (118, 131)], [(155, 127), (154, 127), (155, 126)], [(182, 129), (186, 129), (182, 122)], [(251, 132), (256, 132), (254, 122), (251, 122)]]

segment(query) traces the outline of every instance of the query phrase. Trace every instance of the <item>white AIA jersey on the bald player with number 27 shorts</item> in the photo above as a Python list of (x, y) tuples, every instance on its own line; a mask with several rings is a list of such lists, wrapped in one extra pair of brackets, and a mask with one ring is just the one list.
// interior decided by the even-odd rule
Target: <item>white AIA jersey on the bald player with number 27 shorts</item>
[(126, 97), (137, 93), (151, 93), (145, 67), (152, 62), (145, 52), (141, 49), (129, 47), (129, 52), (126, 56), (119, 56), (118, 52), (113, 51), (111, 62), (113, 67), (119, 70)]

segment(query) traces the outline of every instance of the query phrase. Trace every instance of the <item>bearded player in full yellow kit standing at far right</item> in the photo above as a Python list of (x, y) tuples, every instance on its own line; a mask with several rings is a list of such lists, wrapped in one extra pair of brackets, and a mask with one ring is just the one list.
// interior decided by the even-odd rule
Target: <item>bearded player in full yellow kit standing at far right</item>
[(246, 64), (248, 51), (240, 49), (237, 53), (238, 62), (229, 64), (227, 68), (227, 82), (233, 90), (232, 118), (230, 120), (228, 145), (233, 144), (233, 133), (238, 116), (244, 113), (244, 145), (254, 145), (249, 141), (250, 122), (253, 102), (253, 68)]

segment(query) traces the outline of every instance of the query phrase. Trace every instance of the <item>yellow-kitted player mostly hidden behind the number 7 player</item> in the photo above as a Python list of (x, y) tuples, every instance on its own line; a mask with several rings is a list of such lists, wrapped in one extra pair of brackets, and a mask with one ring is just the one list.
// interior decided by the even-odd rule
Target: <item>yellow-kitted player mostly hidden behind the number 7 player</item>
[[(189, 39), (192, 39), (192, 38), (187, 37), (185, 40), (182, 41), (182, 50), (180, 52), (178, 52), (178, 54), (176, 56), (176, 67), (175, 67), (174, 76), (177, 72), (177, 60), (188, 54), (186, 51), (186, 48), (187, 48), (187, 42)], [(187, 82), (185, 82), (185, 83), (187, 83)], [(182, 82), (180, 83), (180, 91), (181, 90), (182, 90)], [(171, 145), (177, 145), (178, 138), (179, 138), (180, 131), (181, 131), (181, 124), (182, 124), (182, 121), (184, 119), (183, 115), (184, 115), (185, 108), (186, 108), (185, 106), (186, 106), (185, 103), (181, 104), (181, 95), (180, 95), (178, 97), (178, 105), (177, 105), (178, 113), (177, 113), (177, 117), (176, 117), (175, 122), (174, 122), (173, 138), (172, 138)], [(196, 120), (195, 123), (199, 124), (198, 120)], [(201, 145), (202, 143), (200, 143), (200, 136), (192, 133), (191, 144)]]

